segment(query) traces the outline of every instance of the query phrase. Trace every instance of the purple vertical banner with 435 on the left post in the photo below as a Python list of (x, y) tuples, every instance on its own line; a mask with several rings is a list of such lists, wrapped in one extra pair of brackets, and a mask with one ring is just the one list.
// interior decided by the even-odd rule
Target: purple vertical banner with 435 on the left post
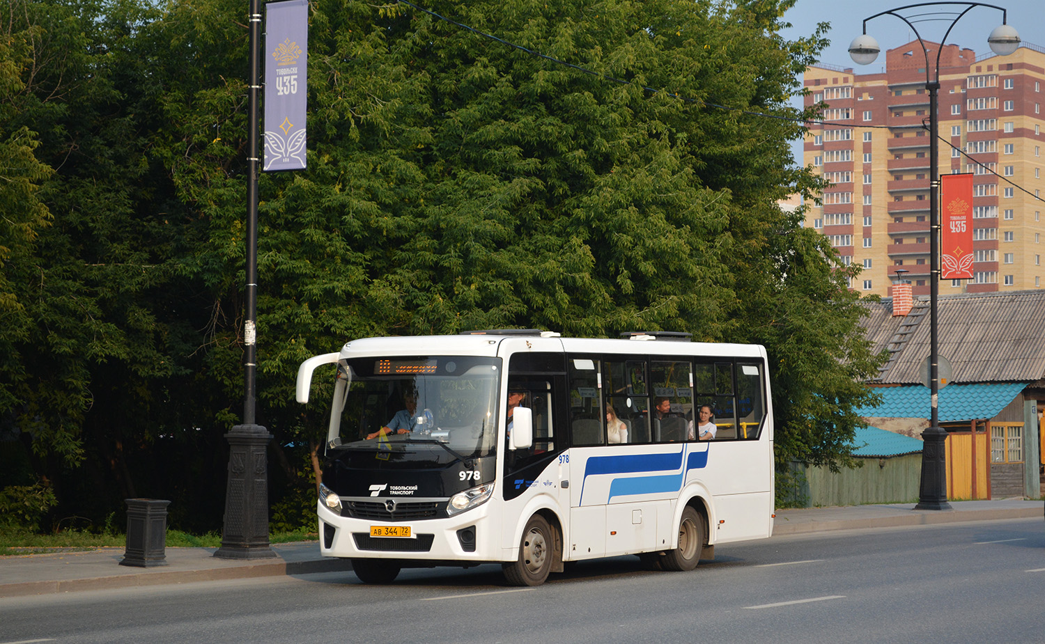
[(305, 168), (308, 0), (265, 4), (265, 171)]

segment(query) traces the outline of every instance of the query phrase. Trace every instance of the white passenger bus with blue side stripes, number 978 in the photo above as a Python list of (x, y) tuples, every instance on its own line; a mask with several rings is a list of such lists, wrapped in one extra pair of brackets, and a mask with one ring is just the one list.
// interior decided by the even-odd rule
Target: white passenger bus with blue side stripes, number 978
[[(566, 562), (622, 554), (691, 570), (716, 544), (772, 532), (760, 345), (532, 330), (367, 338), (302, 363), (299, 402), (327, 363), (320, 548), (364, 582), (498, 563), (509, 583), (536, 586)], [(696, 436), (704, 405), (714, 439)], [(610, 411), (620, 423), (607, 428)]]

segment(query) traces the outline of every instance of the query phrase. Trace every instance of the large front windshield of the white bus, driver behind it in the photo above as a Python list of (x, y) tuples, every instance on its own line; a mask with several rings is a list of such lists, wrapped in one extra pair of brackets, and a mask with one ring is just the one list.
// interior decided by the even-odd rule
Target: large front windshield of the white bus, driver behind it
[(350, 359), (338, 376), (341, 443), (392, 452), (428, 444), (461, 458), (493, 454), (500, 374), (500, 358)]

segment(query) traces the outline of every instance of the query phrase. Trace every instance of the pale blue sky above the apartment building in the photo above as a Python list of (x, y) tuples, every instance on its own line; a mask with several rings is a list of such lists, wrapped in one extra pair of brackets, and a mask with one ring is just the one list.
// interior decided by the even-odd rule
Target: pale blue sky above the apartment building
[[(798, 0), (784, 15), (784, 21), (793, 26), (784, 29), (781, 34), (793, 40), (811, 34), (819, 22), (830, 23), (831, 27), (827, 37), (831, 44), (823, 50), (820, 62), (840, 67), (852, 67), (856, 73), (878, 73), (882, 71), (886, 50), (914, 40), (914, 33), (904, 21), (893, 16), (880, 16), (867, 23), (867, 33), (875, 37), (882, 48), (878, 59), (870, 65), (860, 66), (854, 63), (849, 55), (849, 45), (854, 38), (863, 33), (863, 20), (865, 18), (908, 4), (915, 4), (915, 2), (912, 0)], [(916, 22), (914, 26), (918, 27), (924, 40), (939, 42), (950, 26), (951, 20), (954, 19), (953, 14), (947, 16), (942, 11), (960, 11), (965, 8), (960, 6), (962, 4), (968, 3), (956, 2), (953, 6), (925, 7), (916, 13), (934, 14), (943, 20)], [(1007, 23), (1019, 31), (1020, 39), (1023, 42), (1045, 47), (1045, 0), (989, 0), (985, 4), (1007, 9)], [(904, 11), (904, 16), (909, 18), (908, 11), (911, 10), (913, 9)], [(986, 44), (986, 37), (992, 29), (1001, 24), (1001, 17), (1002, 14), (998, 9), (974, 7), (954, 26), (946, 44), (968, 47), (977, 55), (988, 53), (991, 51), (991, 47)], [(800, 103), (796, 101), (795, 104)], [(795, 160), (800, 163), (802, 143), (795, 142), (791, 149)]]

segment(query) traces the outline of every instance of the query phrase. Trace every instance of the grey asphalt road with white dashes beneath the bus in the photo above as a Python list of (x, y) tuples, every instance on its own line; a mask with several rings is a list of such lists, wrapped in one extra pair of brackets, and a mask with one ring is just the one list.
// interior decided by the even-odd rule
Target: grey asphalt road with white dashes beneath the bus
[(6, 642), (1042, 642), (1041, 519), (775, 536), (692, 573), (634, 557), (542, 587), (492, 566), (0, 599)]

